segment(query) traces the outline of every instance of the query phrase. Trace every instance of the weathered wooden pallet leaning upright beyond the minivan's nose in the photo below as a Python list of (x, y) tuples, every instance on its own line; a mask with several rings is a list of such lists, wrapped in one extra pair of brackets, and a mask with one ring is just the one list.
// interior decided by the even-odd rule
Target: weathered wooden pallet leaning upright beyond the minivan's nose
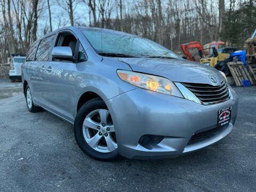
[(242, 61), (228, 62), (227, 65), (234, 78), (236, 86), (243, 86), (243, 80), (250, 81), (251, 85), (255, 84), (252, 76), (249, 74), (249, 71), (246, 69)]

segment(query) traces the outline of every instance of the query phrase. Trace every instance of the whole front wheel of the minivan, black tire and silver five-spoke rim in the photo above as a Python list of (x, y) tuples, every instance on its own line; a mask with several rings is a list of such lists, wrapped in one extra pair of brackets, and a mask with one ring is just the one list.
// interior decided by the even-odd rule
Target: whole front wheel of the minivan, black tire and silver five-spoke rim
[(103, 161), (119, 156), (115, 127), (102, 99), (92, 99), (78, 110), (74, 133), (78, 146), (86, 155)]

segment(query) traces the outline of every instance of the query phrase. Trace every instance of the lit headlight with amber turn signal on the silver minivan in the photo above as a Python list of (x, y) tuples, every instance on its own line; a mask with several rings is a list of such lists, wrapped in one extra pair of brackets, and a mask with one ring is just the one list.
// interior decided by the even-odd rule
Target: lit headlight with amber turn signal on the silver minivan
[(117, 70), (117, 74), (123, 81), (142, 89), (183, 98), (178, 88), (169, 79), (127, 70)]

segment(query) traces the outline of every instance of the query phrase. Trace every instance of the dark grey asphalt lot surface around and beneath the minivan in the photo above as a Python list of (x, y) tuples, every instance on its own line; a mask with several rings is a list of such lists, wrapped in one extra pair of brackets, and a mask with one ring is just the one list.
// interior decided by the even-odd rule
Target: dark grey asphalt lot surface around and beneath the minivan
[(237, 122), (215, 145), (175, 159), (100, 162), (78, 148), (71, 124), (29, 113), (21, 83), (0, 80), (0, 191), (255, 191), (256, 86), (234, 89)]

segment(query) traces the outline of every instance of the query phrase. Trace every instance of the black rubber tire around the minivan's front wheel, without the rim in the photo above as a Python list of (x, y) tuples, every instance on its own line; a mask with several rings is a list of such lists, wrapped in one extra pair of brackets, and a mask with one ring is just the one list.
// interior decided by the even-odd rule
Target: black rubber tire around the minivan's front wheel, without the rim
[(91, 148), (84, 139), (83, 135), (83, 122), (85, 117), (91, 113), (93, 110), (97, 109), (106, 109), (108, 110), (105, 102), (100, 99), (92, 99), (86, 102), (77, 112), (75, 123), (74, 123), (74, 134), (77, 141), (77, 145), (84, 151), (85, 154), (89, 155), (92, 158), (108, 161), (115, 159), (119, 156), (118, 149), (111, 151), (109, 153), (101, 153), (97, 150)]

